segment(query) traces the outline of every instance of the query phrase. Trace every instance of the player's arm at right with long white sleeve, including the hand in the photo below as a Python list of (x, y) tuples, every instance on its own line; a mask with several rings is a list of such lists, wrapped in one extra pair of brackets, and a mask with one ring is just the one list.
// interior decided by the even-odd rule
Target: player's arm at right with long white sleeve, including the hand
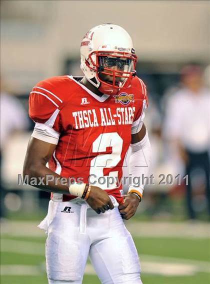
[[(129, 158), (129, 172), (131, 176), (148, 175), (148, 168), (151, 159), (151, 146), (148, 133), (144, 123), (141, 129), (131, 135), (131, 155)], [(143, 184), (130, 184), (128, 193), (124, 195), (123, 203), (119, 205), (119, 212), (123, 219), (131, 218), (142, 199)]]

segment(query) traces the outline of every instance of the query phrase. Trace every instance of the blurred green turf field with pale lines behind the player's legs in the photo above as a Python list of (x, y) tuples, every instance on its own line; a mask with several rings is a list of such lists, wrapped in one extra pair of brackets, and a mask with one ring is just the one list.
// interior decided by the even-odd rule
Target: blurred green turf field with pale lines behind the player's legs
[[(210, 283), (210, 239), (133, 236), (143, 284)], [(43, 236), (1, 235), (1, 284), (47, 283)], [(24, 250), (24, 253), (21, 252)], [(22, 265), (22, 266), (21, 266)], [(91, 266), (88, 261), (88, 266)], [(91, 268), (91, 267), (90, 267)], [(100, 283), (92, 268), (84, 284)]]

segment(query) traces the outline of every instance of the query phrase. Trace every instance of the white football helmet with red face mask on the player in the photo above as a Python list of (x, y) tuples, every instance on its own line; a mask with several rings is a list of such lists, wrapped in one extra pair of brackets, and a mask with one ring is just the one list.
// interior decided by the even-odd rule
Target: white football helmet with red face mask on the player
[(129, 87), (135, 76), (134, 53), (126, 30), (115, 24), (100, 24), (82, 38), (80, 68), (99, 91), (116, 95), (121, 88)]

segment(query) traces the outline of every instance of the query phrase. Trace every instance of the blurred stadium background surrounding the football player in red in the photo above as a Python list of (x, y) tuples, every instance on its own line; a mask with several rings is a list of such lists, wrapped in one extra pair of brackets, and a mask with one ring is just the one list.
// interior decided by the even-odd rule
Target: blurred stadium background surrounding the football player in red
[[(0, 4), (1, 283), (47, 282), (46, 236), (36, 225), (46, 214), (49, 194), (17, 185), (33, 128), (27, 118), (28, 94), (44, 78), (80, 75), (80, 40), (89, 28), (104, 22), (121, 25), (130, 33), (138, 55), (137, 75), (148, 90), (145, 124), (152, 144), (155, 184), (146, 186), (138, 212), (126, 222), (141, 260), (143, 283), (209, 283), (209, 184), (205, 175), (209, 164), (199, 156), (209, 153), (209, 96), (202, 100), (200, 94), (199, 105), (198, 101), (192, 104), (193, 98), (183, 102), (175, 95), (183, 90), (183, 83), (188, 88), (200, 84), (209, 92), (210, 1), (2, 0)], [(184, 67), (188, 64), (193, 67)], [(188, 81), (183, 80), (183, 72)], [(201, 124), (195, 127), (191, 117), (185, 117), (187, 135), (196, 136), (194, 151), (184, 144), (184, 128), (179, 127), (176, 136), (173, 132), (182, 103), (192, 105), (192, 116), (202, 118), (196, 119), (202, 123), (198, 121)], [(186, 154), (189, 158), (191, 152), (200, 162), (191, 172), (188, 208), (182, 177)], [(159, 174), (180, 174), (181, 184), (173, 180), (170, 185), (158, 185)], [(99, 283), (89, 262), (83, 283)]]

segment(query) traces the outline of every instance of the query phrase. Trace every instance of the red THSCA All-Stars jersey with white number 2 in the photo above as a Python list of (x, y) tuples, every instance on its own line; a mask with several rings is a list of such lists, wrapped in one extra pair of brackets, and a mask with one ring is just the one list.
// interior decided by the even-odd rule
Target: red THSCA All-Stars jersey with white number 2
[[(37, 83), (29, 96), (29, 116), (58, 135), (56, 149), (48, 162), (51, 170), (67, 178), (95, 182), (121, 203), (122, 186), (116, 177), (120, 180), (122, 176), (131, 128), (137, 128), (147, 107), (146, 87), (134, 77), (131, 86), (118, 95), (98, 96), (82, 85), (80, 79), (65, 75)], [(111, 176), (114, 182), (107, 187), (104, 181)], [(53, 194), (63, 201), (75, 197)]]

